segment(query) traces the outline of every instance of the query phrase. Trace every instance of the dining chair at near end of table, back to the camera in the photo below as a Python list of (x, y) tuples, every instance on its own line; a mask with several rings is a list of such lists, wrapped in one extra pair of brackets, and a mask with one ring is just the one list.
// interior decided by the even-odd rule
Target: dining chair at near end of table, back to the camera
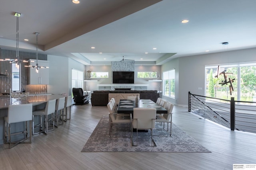
[[(133, 121), (132, 121), (132, 128), (136, 129), (137, 140), (136, 145), (133, 144), (132, 139), (132, 146), (138, 146), (138, 130), (148, 130), (151, 131), (151, 146), (156, 143), (153, 139), (153, 128), (155, 128), (156, 123), (156, 108), (134, 108), (133, 110)], [(133, 135), (132, 135), (133, 138)]]

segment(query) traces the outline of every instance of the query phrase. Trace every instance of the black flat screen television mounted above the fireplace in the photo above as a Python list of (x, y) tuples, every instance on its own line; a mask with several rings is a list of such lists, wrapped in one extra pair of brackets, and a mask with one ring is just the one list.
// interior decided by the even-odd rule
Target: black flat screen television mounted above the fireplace
[(113, 71), (113, 83), (133, 84), (134, 72), (133, 71)]

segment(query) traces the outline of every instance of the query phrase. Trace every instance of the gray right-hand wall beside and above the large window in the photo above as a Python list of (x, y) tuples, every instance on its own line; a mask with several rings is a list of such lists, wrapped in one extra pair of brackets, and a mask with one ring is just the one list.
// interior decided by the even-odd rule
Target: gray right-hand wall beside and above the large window
[[(188, 106), (189, 91), (194, 94), (204, 95), (205, 66), (256, 62), (255, 54), (256, 48), (252, 48), (222, 53), (180, 57), (163, 64), (162, 71), (175, 68), (176, 95), (174, 102), (180, 106)], [(198, 88), (202, 88), (202, 90), (198, 90)]]

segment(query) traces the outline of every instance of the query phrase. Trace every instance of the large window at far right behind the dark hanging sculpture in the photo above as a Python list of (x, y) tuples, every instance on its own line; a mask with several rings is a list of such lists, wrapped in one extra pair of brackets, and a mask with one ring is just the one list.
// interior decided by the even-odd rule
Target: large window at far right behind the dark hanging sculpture
[(228, 78), (235, 78), (232, 82), (234, 91), (230, 93), (230, 83), (222, 85), (225, 81), (224, 74), (218, 78), (218, 66), (206, 66), (206, 96), (228, 99), (234, 97), (235, 100), (254, 101), (256, 100), (256, 63), (252, 64), (232, 64), (228, 66), (220, 66), (220, 72), (226, 70)]

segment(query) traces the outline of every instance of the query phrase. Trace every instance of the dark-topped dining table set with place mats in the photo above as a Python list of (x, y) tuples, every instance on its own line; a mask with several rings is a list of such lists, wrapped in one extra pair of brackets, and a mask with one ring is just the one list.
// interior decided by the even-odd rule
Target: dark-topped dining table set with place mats
[(150, 99), (140, 99), (139, 104), (135, 103), (135, 100), (126, 100), (121, 99), (118, 108), (117, 113), (132, 113), (134, 108), (155, 108), (157, 114), (161, 113), (168, 113), (168, 110), (166, 110), (164, 107), (156, 104)]

